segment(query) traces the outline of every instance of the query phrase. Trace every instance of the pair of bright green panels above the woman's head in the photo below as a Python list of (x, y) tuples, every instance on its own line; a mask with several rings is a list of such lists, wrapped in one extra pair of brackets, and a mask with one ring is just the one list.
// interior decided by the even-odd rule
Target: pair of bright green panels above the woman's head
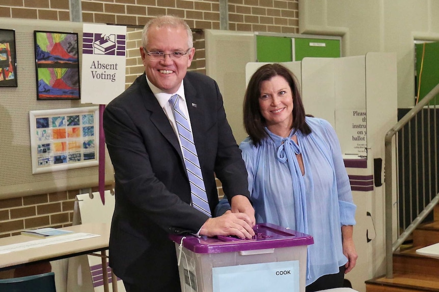
[(339, 39), (256, 36), (258, 62), (301, 61), (304, 57), (340, 57)]

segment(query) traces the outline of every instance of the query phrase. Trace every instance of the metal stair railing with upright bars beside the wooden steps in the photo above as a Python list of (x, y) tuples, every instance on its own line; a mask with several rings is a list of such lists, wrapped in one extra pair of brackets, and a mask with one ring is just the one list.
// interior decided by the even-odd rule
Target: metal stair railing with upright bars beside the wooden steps
[[(431, 214), (439, 201), (437, 84), (385, 137), (386, 277), (393, 278), (393, 252)], [(393, 139), (395, 137), (395, 139)], [(395, 147), (395, 148), (394, 148)], [(397, 201), (392, 199), (392, 150), (396, 149)], [(393, 242), (393, 205), (397, 204), (397, 239)]]

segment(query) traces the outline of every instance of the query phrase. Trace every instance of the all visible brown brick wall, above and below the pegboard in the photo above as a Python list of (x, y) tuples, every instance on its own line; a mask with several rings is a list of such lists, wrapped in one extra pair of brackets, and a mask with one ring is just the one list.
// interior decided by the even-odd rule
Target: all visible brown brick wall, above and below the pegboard
[[(141, 28), (155, 15), (173, 14), (194, 29), (196, 55), (189, 70), (205, 73), (203, 29), (219, 29), (218, 0), (100, 0), (81, 2), (84, 22), (121, 24), (128, 27), (127, 86), (143, 73), (139, 56)], [(229, 29), (270, 33), (298, 33), (297, 0), (229, 0)], [(1, 0), (0, 17), (70, 20), (68, 0)], [(133, 29), (130, 27), (138, 27)], [(56, 29), (56, 28), (54, 28)], [(217, 181), (219, 196), (223, 196)], [(96, 186), (90, 186), (96, 191)], [(0, 200), (0, 237), (23, 229), (72, 224), (78, 190), (44, 193)]]

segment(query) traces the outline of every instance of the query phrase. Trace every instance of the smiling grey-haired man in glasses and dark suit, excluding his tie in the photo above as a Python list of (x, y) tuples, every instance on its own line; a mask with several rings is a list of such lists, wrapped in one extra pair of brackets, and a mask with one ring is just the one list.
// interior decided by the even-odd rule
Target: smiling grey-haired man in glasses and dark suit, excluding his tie
[[(255, 224), (247, 172), (233, 138), (222, 95), (211, 78), (187, 72), (195, 49), (190, 28), (161, 16), (145, 25), (140, 48), (145, 73), (108, 104), (105, 140), (115, 169), (116, 206), (110, 266), (128, 292), (180, 291), (169, 234), (251, 238)], [(188, 115), (208, 203), (218, 203), (215, 175), (232, 212), (211, 218), (191, 206), (191, 189), (173, 109), (178, 94)]]

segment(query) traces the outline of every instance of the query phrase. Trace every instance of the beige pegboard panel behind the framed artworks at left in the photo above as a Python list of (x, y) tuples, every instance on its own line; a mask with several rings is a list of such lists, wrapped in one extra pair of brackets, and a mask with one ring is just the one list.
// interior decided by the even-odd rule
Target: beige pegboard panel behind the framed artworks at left
[[(71, 27), (63, 29), (60, 23), (51, 29), (35, 29), (72, 31)], [(81, 104), (80, 100), (37, 100), (34, 33), (28, 28), (15, 30), (18, 87), (0, 87), (0, 199), (97, 186), (97, 166), (32, 174), (29, 111), (93, 105)], [(82, 34), (78, 33), (79, 52), (81, 40)], [(108, 154), (105, 156), (106, 184), (111, 184), (113, 168)]]

